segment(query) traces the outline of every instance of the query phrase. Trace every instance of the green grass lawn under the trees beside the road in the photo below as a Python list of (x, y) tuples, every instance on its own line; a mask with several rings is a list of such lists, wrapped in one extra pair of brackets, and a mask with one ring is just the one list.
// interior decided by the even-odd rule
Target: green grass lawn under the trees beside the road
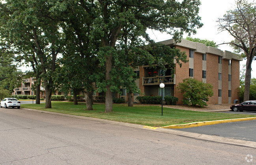
[(198, 121), (256, 117), (254, 115), (197, 112), (190, 110), (179, 110), (174, 108), (163, 108), (163, 116), (161, 116), (160, 106), (136, 105), (133, 107), (128, 107), (127, 105), (118, 104), (113, 105), (113, 112), (105, 113), (105, 104), (94, 104), (94, 110), (87, 111), (85, 103), (78, 103), (78, 105), (74, 105), (73, 102), (61, 101), (53, 101), (52, 108), (48, 109), (45, 109), (45, 103), (41, 103), (40, 105), (23, 104), (21, 105), (21, 108), (31, 108), (50, 112), (58, 112), (62, 114), (94, 117), (99, 119), (121, 121), (125, 123), (147, 125), (151, 127), (163, 127), (167, 125), (192, 123)]

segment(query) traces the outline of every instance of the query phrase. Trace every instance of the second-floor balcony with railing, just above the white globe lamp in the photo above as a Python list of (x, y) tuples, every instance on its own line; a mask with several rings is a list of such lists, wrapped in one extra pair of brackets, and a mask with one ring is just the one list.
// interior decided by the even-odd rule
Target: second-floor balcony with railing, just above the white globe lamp
[(172, 76), (157, 76), (157, 77), (143, 77), (142, 85), (159, 85), (164, 84), (176, 84), (175, 83), (176, 75), (174, 78)]

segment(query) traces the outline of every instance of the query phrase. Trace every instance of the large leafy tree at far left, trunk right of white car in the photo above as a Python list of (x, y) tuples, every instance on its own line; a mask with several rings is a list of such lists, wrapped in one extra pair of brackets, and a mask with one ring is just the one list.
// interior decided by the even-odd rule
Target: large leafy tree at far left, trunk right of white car
[[(31, 56), (40, 62), (36, 75), (40, 74), (45, 87), (45, 108), (51, 108), (52, 76), (56, 70), (57, 55), (63, 47), (62, 31), (54, 18), (59, 13), (57, 9), (61, 9), (61, 5), (54, 0), (49, 3), (45, 0), (0, 2), (1, 39), (25, 57)], [(37, 79), (37, 83), (41, 83), (41, 79)]]

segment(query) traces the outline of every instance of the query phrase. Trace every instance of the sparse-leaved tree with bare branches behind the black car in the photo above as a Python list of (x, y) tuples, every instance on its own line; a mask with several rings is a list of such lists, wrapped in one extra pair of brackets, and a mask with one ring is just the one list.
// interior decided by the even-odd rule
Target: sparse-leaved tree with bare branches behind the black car
[(219, 30), (228, 31), (234, 40), (223, 43), (230, 44), (236, 53), (242, 53), (246, 58), (244, 100), (249, 100), (251, 65), (256, 56), (256, 7), (255, 3), (247, 0), (237, 0), (236, 8), (227, 11), (223, 18), (219, 18)]

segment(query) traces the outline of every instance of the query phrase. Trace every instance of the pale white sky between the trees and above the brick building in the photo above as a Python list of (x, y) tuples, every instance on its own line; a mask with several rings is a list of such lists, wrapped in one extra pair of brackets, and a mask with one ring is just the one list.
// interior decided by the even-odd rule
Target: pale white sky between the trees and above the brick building
[[(252, 2), (252, 0), (248, 0)], [(218, 31), (218, 18), (222, 18), (226, 11), (235, 8), (235, 0), (201, 0), (199, 10), (199, 16), (201, 17), (201, 22), (204, 24), (200, 29), (197, 29), (195, 35), (191, 35), (193, 38), (207, 39), (216, 42), (216, 44), (221, 44), (224, 42), (230, 42), (234, 38), (229, 35), (228, 32)], [(162, 34), (159, 32), (148, 31), (150, 37), (155, 41), (163, 41), (171, 39), (172, 36), (167, 34)], [(186, 38), (187, 34), (183, 35), (183, 38)], [(219, 49), (222, 51), (227, 50), (233, 52), (233, 49), (225, 44), (220, 45)], [(240, 70), (243, 65), (246, 64), (246, 61), (240, 61)], [(252, 77), (256, 78), (256, 61), (252, 62)]]

